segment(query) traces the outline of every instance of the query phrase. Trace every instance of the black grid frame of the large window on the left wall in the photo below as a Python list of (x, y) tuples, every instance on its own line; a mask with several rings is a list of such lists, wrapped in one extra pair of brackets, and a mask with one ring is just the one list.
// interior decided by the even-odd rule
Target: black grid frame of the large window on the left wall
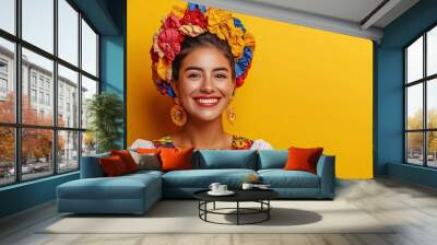
[[(99, 67), (99, 58), (101, 58), (101, 47), (99, 47), (99, 40), (101, 40), (101, 33), (97, 31), (97, 28), (92, 24), (92, 22), (86, 18), (85, 14), (83, 14), (79, 8), (71, 1), (71, 0), (64, 0), (74, 11), (78, 12), (78, 65), (70, 63), (69, 61), (60, 58), (58, 55), (58, 24), (59, 24), (59, 19), (58, 19), (58, 1), (59, 0), (52, 0), (54, 2), (54, 52), (50, 54), (49, 51), (46, 51), (43, 48), (37, 47), (36, 45), (33, 45), (29, 42), (26, 42), (25, 39), (22, 38), (22, 0), (15, 0), (14, 1), (14, 11), (15, 11), (15, 20), (14, 20), (14, 34), (11, 34), (4, 30), (0, 28), (0, 38), (3, 38), (5, 40), (12, 42), (14, 44), (14, 69), (13, 69), (13, 80), (12, 82), (15, 85), (15, 102), (14, 102), (14, 122), (3, 122), (0, 121), (0, 127), (4, 128), (12, 128), (14, 131), (14, 182), (11, 183), (5, 183), (5, 184), (0, 184), (0, 188), (5, 187), (5, 186), (12, 186), (12, 185), (17, 185), (21, 183), (26, 183), (26, 182), (33, 182), (36, 179), (42, 179), (42, 178), (47, 178), (56, 175), (63, 175), (72, 172), (80, 171), (81, 168), (81, 156), (82, 156), (82, 138), (83, 138), (83, 132), (85, 132), (87, 129), (82, 127), (82, 118), (79, 117), (79, 124), (76, 127), (61, 127), (58, 126), (58, 65), (63, 66), (64, 68), (68, 68), (74, 72), (78, 72), (78, 115), (81, 115), (82, 113), (82, 96), (81, 96), (81, 90), (82, 90), (82, 75), (93, 80), (97, 84), (97, 91), (96, 94), (101, 93), (102, 84), (101, 84), (101, 67)], [(88, 73), (87, 71), (82, 69), (82, 20), (92, 28), (92, 31), (96, 34), (96, 75), (93, 75)], [(39, 56), (43, 56), (44, 58), (50, 59), (54, 63), (52, 68), (52, 93), (50, 94), (50, 100), (52, 100), (52, 103), (50, 102), (50, 105), (52, 106), (52, 122), (50, 126), (43, 126), (43, 125), (31, 125), (31, 124), (23, 124), (22, 121), (22, 48), (25, 48), (29, 51), (33, 51)], [(38, 88), (39, 88), (39, 77), (36, 77), (36, 90), (38, 93)], [(45, 80), (44, 80), (45, 82)], [(29, 88), (33, 86), (32, 81), (28, 81)], [(43, 83), (43, 91), (45, 91), (45, 83)], [(29, 100), (32, 100), (29, 97)], [(39, 100), (37, 97), (37, 100)], [(46, 104), (46, 103), (44, 103)], [(47, 175), (44, 175), (42, 177), (35, 177), (35, 178), (28, 178), (28, 179), (23, 179), (23, 174), (22, 174), (22, 130), (23, 129), (49, 129), (51, 130), (52, 135), (52, 148), (51, 148), (51, 164), (52, 164), (52, 170), (51, 173), (47, 173)], [(58, 160), (58, 135), (62, 131), (71, 131), (71, 132), (76, 132), (78, 133), (78, 167), (74, 170), (68, 170), (68, 171), (60, 171), (58, 170), (59, 167), (59, 160)]]

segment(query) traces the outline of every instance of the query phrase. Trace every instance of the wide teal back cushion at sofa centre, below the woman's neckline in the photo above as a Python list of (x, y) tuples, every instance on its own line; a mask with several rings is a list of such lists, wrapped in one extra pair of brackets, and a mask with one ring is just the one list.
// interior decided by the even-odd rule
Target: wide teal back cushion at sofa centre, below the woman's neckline
[(246, 168), (257, 170), (255, 150), (199, 150), (193, 168)]

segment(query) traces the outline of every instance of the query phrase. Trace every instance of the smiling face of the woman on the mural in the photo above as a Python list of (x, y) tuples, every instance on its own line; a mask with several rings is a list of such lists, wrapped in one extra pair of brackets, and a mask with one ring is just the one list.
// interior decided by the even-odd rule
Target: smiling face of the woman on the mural
[(176, 94), (189, 118), (211, 121), (222, 116), (235, 89), (231, 69), (214, 47), (196, 48), (182, 60)]

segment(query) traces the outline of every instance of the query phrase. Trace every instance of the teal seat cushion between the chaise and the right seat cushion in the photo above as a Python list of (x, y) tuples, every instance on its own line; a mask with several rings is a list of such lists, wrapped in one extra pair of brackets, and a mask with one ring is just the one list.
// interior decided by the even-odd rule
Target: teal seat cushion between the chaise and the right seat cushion
[(211, 183), (218, 182), (228, 185), (231, 188), (236, 188), (251, 174), (257, 173), (252, 170), (235, 168), (173, 171), (163, 175), (163, 186), (165, 188), (208, 188)]

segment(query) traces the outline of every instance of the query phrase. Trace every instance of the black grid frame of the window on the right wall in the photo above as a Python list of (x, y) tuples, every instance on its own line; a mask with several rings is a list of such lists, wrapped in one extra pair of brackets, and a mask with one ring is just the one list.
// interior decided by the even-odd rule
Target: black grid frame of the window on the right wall
[[(437, 73), (427, 75), (427, 34), (429, 31), (433, 28), (437, 28), (437, 23), (432, 24), (428, 26), (425, 31), (423, 31), (418, 36), (413, 38), (410, 43), (408, 43), (404, 47), (402, 47), (402, 57), (403, 57), (403, 163), (408, 165), (414, 165), (414, 166), (421, 166), (421, 167), (426, 167), (426, 168), (432, 168), (436, 170), (437, 166), (429, 166), (428, 165), (428, 148), (427, 148), (427, 141), (428, 141), (428, 132), (437, 131), (437, 128), (428, 128), (428, 107), (427, 107), (427, 86), (429, 82), (433, 82), (433, 80), (437, 79)], [(420, 38), (423, 38), (423, 69), (422, 69), (422, 78), (411, 81), (409, 83), (408, 81), (408, 48), (414, 44), (416, 40)], [(408, 129), (408, 89), (413, 85), (422, 84), (422, 95), (423, 95), (423, 113), (422, 113), (422, 129)], [(422, 132), (422, 165), (414, 164), (409, 162), (409, 145), (408, 145), (408, 137), (406, 135), (409, 132)]]

